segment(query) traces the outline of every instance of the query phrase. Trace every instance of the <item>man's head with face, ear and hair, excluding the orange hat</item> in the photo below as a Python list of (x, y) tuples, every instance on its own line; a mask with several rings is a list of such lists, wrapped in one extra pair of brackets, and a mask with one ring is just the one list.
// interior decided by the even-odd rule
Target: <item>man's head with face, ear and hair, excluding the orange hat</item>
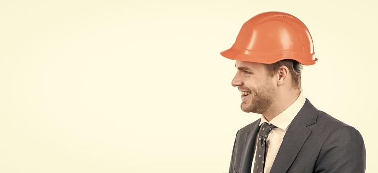
[[(241, 92), (241, 109), (262, 114), (277, 99), (301, 89), (301, 65), (295, 60), (262, 64), (236, 60), (237, 72), (231, 85)], [(272, 109), (272, 108), (271, 108)]]

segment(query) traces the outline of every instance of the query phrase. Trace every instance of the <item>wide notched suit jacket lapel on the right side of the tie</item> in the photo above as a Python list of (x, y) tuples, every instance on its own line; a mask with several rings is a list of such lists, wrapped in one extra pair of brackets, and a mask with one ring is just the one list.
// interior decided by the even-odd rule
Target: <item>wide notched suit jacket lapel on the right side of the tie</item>
[(306, 98), (306, 102), (286, 131), (270, 173), (286, 173), (294, 162), (304, 142), (311, 134), (308, 125), (314, 124), (318, 110)]

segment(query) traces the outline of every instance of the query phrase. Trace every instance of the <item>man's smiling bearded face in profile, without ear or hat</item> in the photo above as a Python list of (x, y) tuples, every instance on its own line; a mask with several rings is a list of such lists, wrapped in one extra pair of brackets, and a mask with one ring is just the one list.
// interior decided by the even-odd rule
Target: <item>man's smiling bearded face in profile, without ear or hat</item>
[[(237, 73), (231, 85), (237, 86), (241, 92), (241, 110), (262, 114), (276, 98), (276, 86), (268, 76), (264, 64), (236, 61)], [(248, 94), (248, 95), (243, 95)]]

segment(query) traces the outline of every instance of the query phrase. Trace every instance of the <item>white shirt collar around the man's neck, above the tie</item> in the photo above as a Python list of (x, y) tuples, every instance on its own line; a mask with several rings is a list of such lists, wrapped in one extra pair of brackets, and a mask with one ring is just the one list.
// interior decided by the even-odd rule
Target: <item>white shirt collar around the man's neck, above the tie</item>
[(287, 109), (274, 117), (271, 121), (268, 122), (261, 114), (261, 121), (259, 126), (261, 126), (261, 124), (263, 124), (264, 122), (267, 122), (268, 124), (273, 124), (280, 129), (286, 130), (287, 127), (291, 124), (291, 121), (298, 114), (299, 110), (303, 107), (305, 102), (306, 98), (304, 97), (303, 90), (301, 89), (301, 92), (294, 103), (292, 103)]

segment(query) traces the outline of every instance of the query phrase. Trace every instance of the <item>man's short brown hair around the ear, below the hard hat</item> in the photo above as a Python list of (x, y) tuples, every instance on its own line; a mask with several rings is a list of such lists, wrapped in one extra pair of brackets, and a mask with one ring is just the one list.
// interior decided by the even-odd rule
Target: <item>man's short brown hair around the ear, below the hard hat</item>
[(265, 69), (267, 70), (268, 75), (270, 77), (273, 77), (276, 74), (278, 68), (282, 65), (286, 66), (289, 69), (292, 78), (291, 86), (295, 89), (301, 89), (301, 73), (303, 65), (298, 61), (293, 59), (284, 59), (273, 64), (265, 64)]

